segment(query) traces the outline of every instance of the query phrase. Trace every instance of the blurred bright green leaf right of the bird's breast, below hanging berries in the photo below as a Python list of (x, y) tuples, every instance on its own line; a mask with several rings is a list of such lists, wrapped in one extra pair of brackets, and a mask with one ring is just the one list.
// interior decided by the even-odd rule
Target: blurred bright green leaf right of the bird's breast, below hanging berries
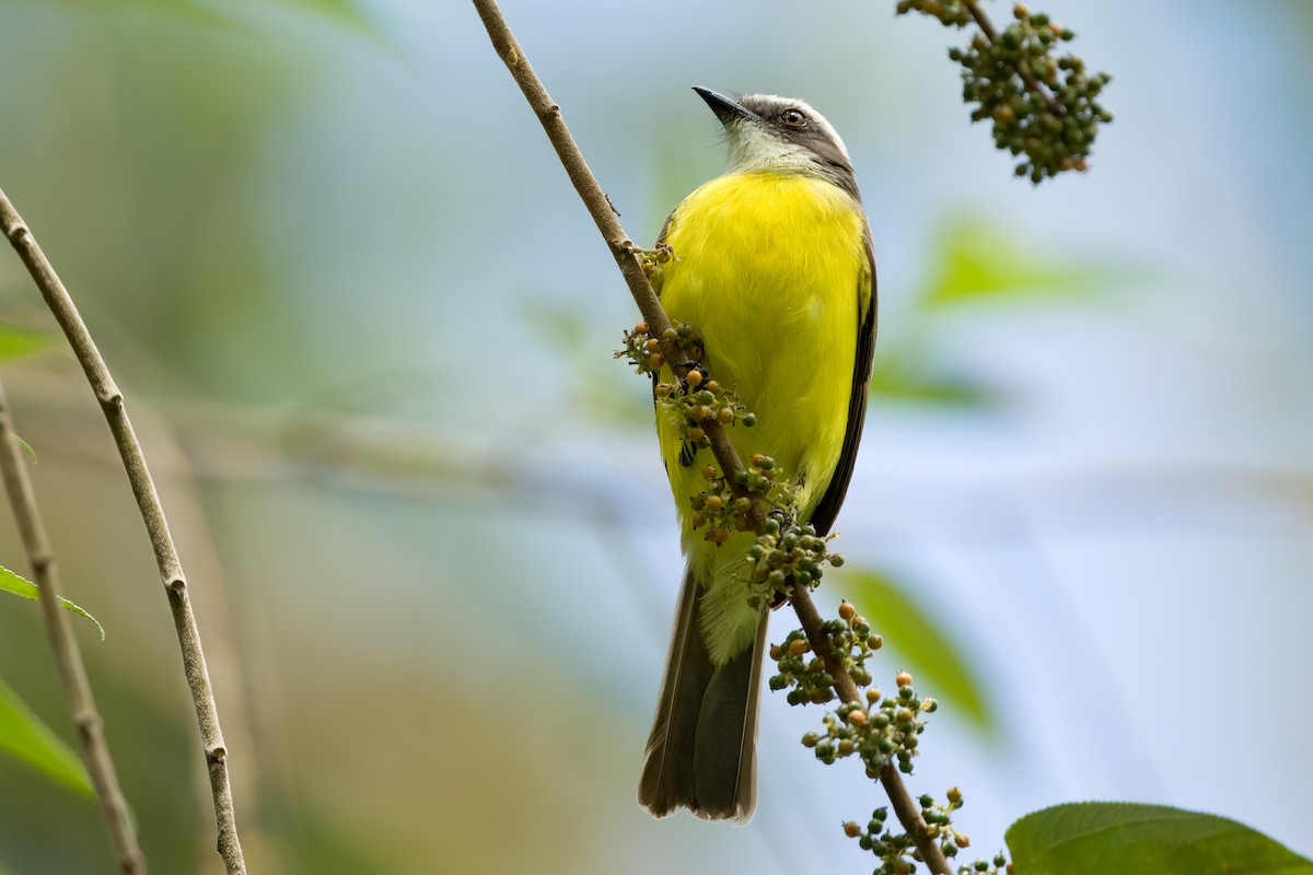
[(995, 231), (983, 218), (955, 218), (941, 232), (936, 270), (922, 291), (927, 310), (1003, 299), (1070, 299), (1120, 278), (1125, 272), (1023, 249), (1018, 237)]

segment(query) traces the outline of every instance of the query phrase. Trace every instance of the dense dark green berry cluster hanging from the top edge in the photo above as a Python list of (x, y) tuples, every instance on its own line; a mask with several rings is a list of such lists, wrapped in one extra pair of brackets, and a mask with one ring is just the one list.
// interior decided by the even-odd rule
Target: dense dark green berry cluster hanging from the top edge
[[(945, 25), (964, 28), (973, 16), (966, 0), (901, 0), (898, 13), (923, 12)], [(1098, 102), (1111, 76), (1090, 73), (1075, 55), (1054, 49), (1075, 34), (1032, 13), (1012, 8), (1014, 21), (994, 33), (983, 16), (982, 31), (948, 56), (962, 67), (962, 100), (977, 104), (972, 121), (990, 121), (994, 143), (1022, 157), (1018, 176), (1039, 184), (1064, 171), (1087, 169), (1099, 126), (1112, 113)]]

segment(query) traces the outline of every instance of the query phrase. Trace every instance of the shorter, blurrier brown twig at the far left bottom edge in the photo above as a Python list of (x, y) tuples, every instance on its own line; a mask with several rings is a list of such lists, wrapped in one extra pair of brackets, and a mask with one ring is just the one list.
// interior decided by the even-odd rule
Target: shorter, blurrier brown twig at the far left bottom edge
[(77, 744), (81, 746), (83, 762), (91, 783), (100, 798), (100, 809), (109, 826), (109, 838), (118, 857), (118, 870), (123, 875), (144, 875), (146, 857), (137, 844), (137, 832), (127, 812), (127, 802), (118, 786), (118, 773), (109, 756), (105, 741), (105, 722), (96, 710), (96, 699), (87, 681), (87, 666), (83, 664), (77, 639), (68, 628), (68, 614), (59, 607), (59, 568), (55, 565), (46, 526), (37, 509), (37, 495), (32, 488), (32, 478), (18, 446), (9, 415), (9, 401), (0, 386), (0, 476), (4, 478), (4, 491), (9, 496), (9, 508), (18, 526), (18, 539), (32, 565), (32, 580), (41, 590), (41, 607), (46, 618), (46, 636), (55, 655), (59, 680), (68, 698), (68, 711), (77, 729)]

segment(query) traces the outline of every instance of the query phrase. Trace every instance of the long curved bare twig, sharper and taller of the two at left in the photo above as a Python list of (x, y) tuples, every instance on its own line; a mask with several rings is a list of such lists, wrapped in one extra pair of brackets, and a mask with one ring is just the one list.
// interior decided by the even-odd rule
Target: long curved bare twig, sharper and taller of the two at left
[(219, 712), (210, 687), (210, 676), (205, 668), (205, 653), (201, 652), (201, 632), (192, 613), (192, 600), (186, 590), (186, 577), (183, 563), (177, 558), (173, 537), (164, 518), (155, 481), (146, 467), (146, 457), (137, 442), (137, 433), (127, 418), (123, 395), (114, 384), (105, 359), (87, 331), (68, 290), (60, 282), (46, 254), (37, 245), (35, 237), (14, 210), (13, 203), (0, 190), (0, 230), (18, 251), (18, 257), (41, 290), (42, 298), (54, 314), (72, 346), (77, 362), (87, 374), (96, 400), (100, 401), (109, 430), (118, 446), (118, 455), (127, 471), (127, 480), (137, 497), (142, 521), (155, 551), (164, 592), (168, 594), (169, 610), (173, 614), (173, 628), (177, 631), (179, 648), (183, 653), (183, 670), (192, 690), (192, 704), (196, 707), (196, 722), (201, 732), (201, 745), (205, 748), (205, 762), (210, 775), (210, 795), (214, 799), (214, 820), (218, 833), (217, 847), (227, 867), (228, 875), (244, 875), (246, 861), (242, 857), (242, 842), (238, 838), (236, 815), (232, 809), (232, 788), (228, 784), (227, 745), (219, 729)]

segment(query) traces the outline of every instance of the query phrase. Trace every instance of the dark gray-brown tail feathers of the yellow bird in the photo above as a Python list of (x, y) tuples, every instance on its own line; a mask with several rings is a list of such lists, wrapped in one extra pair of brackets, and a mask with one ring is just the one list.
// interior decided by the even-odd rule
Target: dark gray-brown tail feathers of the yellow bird
[(752, 647), (716, 668), (702, 644), (692, 569), (675, 614), (638, 802), (654, 817), (680, 808), (739, 825), (756, 809), (756, 724), (767, 611)]

